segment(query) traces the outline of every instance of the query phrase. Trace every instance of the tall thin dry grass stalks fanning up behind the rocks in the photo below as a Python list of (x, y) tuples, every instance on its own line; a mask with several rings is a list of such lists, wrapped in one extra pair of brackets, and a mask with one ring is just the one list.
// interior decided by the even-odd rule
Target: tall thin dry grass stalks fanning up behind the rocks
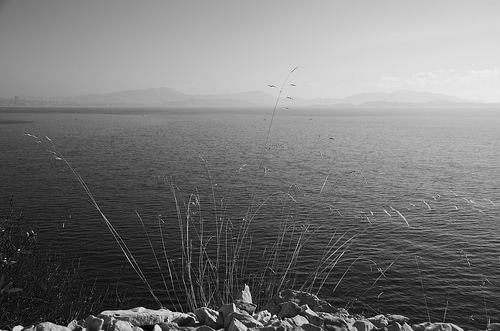
[[(287, 75), (273, 108), (258, 160), (257, 175), (260, 181), (265, 180), (267, 175), (265, 158), (270, 149), (268, 148), (270, 133), (280, 98), (290, 75), (297, 68)], [(218, 307), (232, 302), (235, 293), (238, 293), (244, 284), (251, 287), (254, 302), (259, 305), (266, 303), (285, 289), (319, 294), (341, 263), (347, 267), (338, 279), (337, 286), (352, 266), (363, 260), (362, 256), (346, 257), (347, 251), (362, 231), (353, 233), (339, 229), (330, 235), (323, 247), (318, 247), (313, 252), (308, 248), (308, 244), (314, 241), (323, 229), (312, 222), (313, 210), (302, 219), (292, 217), (290, 210), (299, 203), (295, 192), (300, 189), (295, 184), (291, 184), (285, 191), (272, 192), (262, 197), (257, 193), (259, 181), (256, 181), (246, 210), (240, 210), (241, 214), (237, 217), (227, 214), (229, 202), (225, 202), (224, 197), (216, 195), (210, 166), (202, 158), (209, 178), (208, 195), (196, 191), (183, 199), (173, 178), (165, 179), (175, 205), (180, 254), (173, 254), (167, 249), (167, 238), (174, 232), (170, 224), (166, 224), (161, 217), (158, 218), (156, 235), (159, 235), (161, 242), (161, 247), (158, 248), (155, 247), (152, 235), (137, 213), (164, 287), (154, 288), (125, 240), (102, 212), (85, 180), (59, 152), (52, 140), (46, 138), (51, 145), (51, 153), (72, 171), (92, 205), (101, 215), (123, 255), (161, 307), (183, 311), (192, 311), (201, 306)], [(331, 170), (319, 186), (316, 197), (318, 202), (330, 195), (335, 188), (336, 183), (333, 183), (329, 191), (326, 189), (327, 183), (330, 183), (330, 174)], [(351, 175), (360, 174), (351, 171), (339, 180)], [(275, 224), (273, 232), (258, 233), (255, 226), (262, 217), (260, 213), (269, 208), (273, 210), (273, 214), (266, 214), (265, 217), (271, 218), (266, 222)], [(261, 238), (262, 235), (266, 237)], [(263, 245), (264, 240), (266, 242)], [(257, 245), (256, 241), (260, 243)], [(336, 287), (333, 291), (335, 289)], [(162, 299), (164, 295), (167, 297), (166, 300)]]

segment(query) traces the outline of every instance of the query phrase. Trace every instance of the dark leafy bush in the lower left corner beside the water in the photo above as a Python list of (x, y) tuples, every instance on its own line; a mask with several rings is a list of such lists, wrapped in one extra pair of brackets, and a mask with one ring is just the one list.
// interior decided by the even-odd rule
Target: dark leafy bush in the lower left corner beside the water
[(66, 256), (39, 242), (11, 200), (0, 223), (0, 328), (44, 321), (66, 325), (100, 312), (111, 289), (95, 280), (88, 284), (82, 271), (79, 260), (68, 264)]

